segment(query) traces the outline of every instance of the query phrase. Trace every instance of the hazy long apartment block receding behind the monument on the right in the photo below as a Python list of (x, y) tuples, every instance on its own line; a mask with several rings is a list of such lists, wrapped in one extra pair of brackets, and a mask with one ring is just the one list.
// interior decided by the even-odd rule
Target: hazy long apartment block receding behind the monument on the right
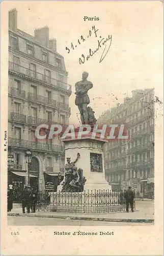
[(154, 90), (134, 90), (123, 104), (105, 111), (98, 123), (125, 124), (128, 140), (104, 146), (105, 177), (112, 189), (132, 186), (141, 197), (154, 193)]

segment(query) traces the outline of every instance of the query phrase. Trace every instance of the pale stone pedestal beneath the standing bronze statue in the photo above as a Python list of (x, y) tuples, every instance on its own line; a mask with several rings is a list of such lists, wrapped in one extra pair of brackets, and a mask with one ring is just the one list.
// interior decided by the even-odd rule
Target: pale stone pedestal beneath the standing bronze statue
[[(111, 185), (105, 180), (103, 144), (106, 142), (100, 138), (82, 138), (82, 139), (65, 139), (65, 163), (67, 157), (71, 158), (71, 162), (76, 159), (77, 153), (80, 158), (75, 163), (77, 169), (83, 169), (83, 175), (87, 181), (85, 190), (112, 190)], [(99, 164), (98, 164), (99, 162)], [(62, 186), (58, 186), (58, 191)]]

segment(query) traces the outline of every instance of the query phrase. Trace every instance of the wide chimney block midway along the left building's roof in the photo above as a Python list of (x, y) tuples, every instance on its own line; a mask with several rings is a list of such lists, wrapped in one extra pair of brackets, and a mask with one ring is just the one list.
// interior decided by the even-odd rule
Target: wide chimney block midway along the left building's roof
[(47, 26), (40, 29), (35, 29), (34, 37), (42, 46), (49, 46), (49, 28)]

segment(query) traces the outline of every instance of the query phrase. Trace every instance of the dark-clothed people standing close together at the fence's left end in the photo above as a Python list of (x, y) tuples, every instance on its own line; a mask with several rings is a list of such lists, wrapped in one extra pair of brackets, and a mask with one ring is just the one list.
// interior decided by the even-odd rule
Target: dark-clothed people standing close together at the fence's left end
[(22, 190), (21, 203), (23, 214), (25, 214), (25, 207), (28, 214), (30, 214), (30, 209), (32, 212), (35, 212), (37, 204), (37, 191), (34, 188), (31, 188), (30, 186), (26, 186)]

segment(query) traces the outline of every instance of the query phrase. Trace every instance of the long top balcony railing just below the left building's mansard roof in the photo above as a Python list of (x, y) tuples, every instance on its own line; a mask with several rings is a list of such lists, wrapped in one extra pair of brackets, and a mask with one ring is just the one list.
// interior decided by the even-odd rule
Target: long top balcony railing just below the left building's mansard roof
[(63, 89), (65, 91), (69, 91), (71, 93), (71, 86), (69, 84), (59, 81), (57, 79), (51, 78), (49, 76), (46, 76), (44, 74), (41, 74), (39, 72), (36, 72), (35, 70), (31, 70), (26, 67), (17, 65), (11, 61), (9, 61), (9, 71), (13, 71), (18, 74), (23, 74), (25, 76), (28, 76), (30, 78), (36, 79), (44, 83), (49, 83), (52, 86)]

